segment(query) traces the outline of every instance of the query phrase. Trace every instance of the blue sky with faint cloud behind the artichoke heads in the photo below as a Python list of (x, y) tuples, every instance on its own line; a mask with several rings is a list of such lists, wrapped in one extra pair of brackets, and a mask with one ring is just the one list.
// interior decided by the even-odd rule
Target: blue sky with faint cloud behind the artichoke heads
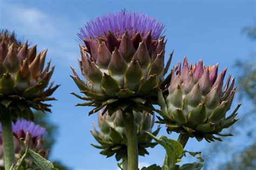
[[(255, 1), (0, 1), (0, 29), (15, 30), (40, 50), (48, 48), (47, 59), (56, 65), (52, 80), (62, 86), (54, 94), (58, 101), (52, 102), (50, 117), (59, 126), (59, 134), (51, 158), (73, 169), (116, 169), (114, 158), (106, 159), (89, 145), (96, 143), (89, 130), (97, 116), (88, 116), (91, 108), (74, 107), (80, 101), (69, 94), (78, 92), (69, 66), (79, 70), (75, 40), (79, 27), (107, 12), (144, 12), (166, 25), (166, 54), (174, 49), (172, 66), (186, 55), (190, 62), (218, 62), (220, 69), (227, 66), (232, 73), (234, 61), (255, 52), (255, 44), (241, 34), (242, 27), (254, 24), (255, 6)], [(167, 135), (164, 127), (160, 134)], [(169, 137), (176, 139), (177, 134)], [(203, 151), (208, 145), (191, 139), (186, 149)], [(140, 157), (140, 164), (161, 165), (163, 148), (157, 146), (149, 152)]]

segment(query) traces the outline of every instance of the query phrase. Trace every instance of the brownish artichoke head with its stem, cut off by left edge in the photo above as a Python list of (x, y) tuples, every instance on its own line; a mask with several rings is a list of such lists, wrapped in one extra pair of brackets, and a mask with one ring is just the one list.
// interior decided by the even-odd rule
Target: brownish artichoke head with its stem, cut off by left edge
[(55, 100), (50, 96), (58, 85), (48, 87), (54, 67), (48, 62), (44, 68), (47, 50), (37, 54), (36, 46), (29, 48), (28, 41), (22, 44), (8, 31), (1, 31), (0, 42), (0, 122), (5, 169), (10, 169), (15, 160), (11, 121), (32, 120), (31, 108), (51, 111), (43, 102)]

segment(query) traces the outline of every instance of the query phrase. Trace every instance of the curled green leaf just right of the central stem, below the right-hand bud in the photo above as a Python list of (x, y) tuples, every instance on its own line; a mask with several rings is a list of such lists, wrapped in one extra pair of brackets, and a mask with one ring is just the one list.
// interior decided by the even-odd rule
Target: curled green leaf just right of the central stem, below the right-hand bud
[(166, 150), (166, 157), (162, 169), (173, 169), (175, 164), (180, 161), (180, 157), (183, 153), (183, 146), (176, 140), (168, 139), (166, 136), (160, 136), (159, 138), (149, 134), (158, 144), (163, 146)]

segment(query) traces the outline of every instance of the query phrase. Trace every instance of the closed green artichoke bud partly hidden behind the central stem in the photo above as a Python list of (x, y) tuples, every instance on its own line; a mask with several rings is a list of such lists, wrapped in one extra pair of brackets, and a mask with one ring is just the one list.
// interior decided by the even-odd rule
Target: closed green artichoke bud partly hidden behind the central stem
[[(154, 115), (152, 116), (145, 111), (143, 113), (133, 112), (133, 115), (136, 123), (139, 155), (148, 154), (146, 148), (153, 148), (156, 143), (153, 143), (152, 138), (144, 132), (146, 131), (157, 135), (160, 127), (158, 126), (157, 130), (152, 132)], [(100, 154), (106, 155), (107, 157), (116, 154), (116, 159), (119, 161), (123, 155), (127, 154), (127, 141), (122, 111), (118, 110), (112, 115), (109, 115), (109, 113), (106, 112), (104, 116), (98, 112), (98, 126), (99, 131), (97, 130), (95, 123), (93, 123), (93, 130), (91, 130), (91, 133), (98, 141), (99, 145), (92, 144), (92, 146), (102, 149), (103, 151), (100, 152)]]

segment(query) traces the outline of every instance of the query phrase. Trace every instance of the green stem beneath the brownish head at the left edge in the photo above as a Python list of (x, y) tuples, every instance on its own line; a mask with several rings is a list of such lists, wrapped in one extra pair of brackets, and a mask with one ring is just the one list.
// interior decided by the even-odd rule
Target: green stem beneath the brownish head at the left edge
[(11, 114), (5, 114), (2, 119), (2, 138), (4, 148), (4, 167), (6, 170), (11, 168), (11, 165), (15, 162), (14, 154), (14, 136), (11, 127)]

